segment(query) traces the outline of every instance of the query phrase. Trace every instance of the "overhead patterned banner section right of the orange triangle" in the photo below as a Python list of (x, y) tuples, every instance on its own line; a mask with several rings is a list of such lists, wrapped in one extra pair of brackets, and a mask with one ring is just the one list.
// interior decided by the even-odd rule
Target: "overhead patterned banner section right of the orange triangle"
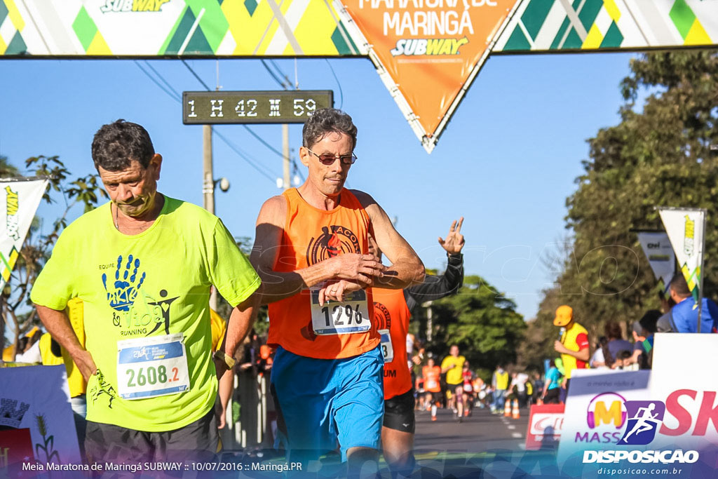
[(635, 50), (716, 42), (716, 1), (524, 0), (494, 51)]

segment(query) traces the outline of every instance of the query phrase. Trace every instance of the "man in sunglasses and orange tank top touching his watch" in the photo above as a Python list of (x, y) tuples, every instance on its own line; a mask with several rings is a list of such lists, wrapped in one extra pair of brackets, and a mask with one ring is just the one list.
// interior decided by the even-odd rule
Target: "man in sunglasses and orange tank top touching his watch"
[[(344, 183), (357, 129), (346, 113), (314, 112), (299, 158), (297, 189), (259, 212), (252, 264), (265, 279), (271, 388), (281, 442), (306, 461), (340, 445), (350, 473), (378, 468), (383, 359), (369, 287), (404, 289), (424, 279), (419, 256), (370, 195)], [(368, 254), (372, 232), (391, 266)]]

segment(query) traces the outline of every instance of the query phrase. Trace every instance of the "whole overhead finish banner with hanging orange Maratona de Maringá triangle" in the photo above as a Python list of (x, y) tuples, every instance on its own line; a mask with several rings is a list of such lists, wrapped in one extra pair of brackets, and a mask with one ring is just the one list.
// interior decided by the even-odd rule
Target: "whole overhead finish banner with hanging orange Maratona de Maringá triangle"
[(492, 53), (717, 43), (716, 0), (0, 0), (0, 59), (369, 57), (427, 152)]

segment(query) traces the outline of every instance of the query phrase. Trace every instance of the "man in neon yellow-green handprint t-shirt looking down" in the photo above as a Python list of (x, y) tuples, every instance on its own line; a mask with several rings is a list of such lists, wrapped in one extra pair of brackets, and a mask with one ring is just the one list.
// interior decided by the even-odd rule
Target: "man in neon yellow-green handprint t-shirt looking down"
[[(157, 192), (162, 156), (142, 126), (102, 126), (92, 157), (111, 201), (65, 228), (32, 289), (88, 381), (88, 458), (210, 457), (217, 378), (251, 327), (260, 280), (218, 218)], [(214, 356), (212, 285), (234, 307)], [(72, 298), (84, 304), (84, 347), (63, 312)]]

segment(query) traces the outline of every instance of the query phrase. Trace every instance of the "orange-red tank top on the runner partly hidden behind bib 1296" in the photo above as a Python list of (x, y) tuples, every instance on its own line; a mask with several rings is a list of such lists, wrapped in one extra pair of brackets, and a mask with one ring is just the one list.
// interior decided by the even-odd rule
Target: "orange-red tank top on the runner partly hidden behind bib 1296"
[(411, 389), (411, 371), (406, 363), (406, 333), (411, 314), (404, 290), (372, 288), (371, 294), (384, 355), (384, 399), (391, 399)]

